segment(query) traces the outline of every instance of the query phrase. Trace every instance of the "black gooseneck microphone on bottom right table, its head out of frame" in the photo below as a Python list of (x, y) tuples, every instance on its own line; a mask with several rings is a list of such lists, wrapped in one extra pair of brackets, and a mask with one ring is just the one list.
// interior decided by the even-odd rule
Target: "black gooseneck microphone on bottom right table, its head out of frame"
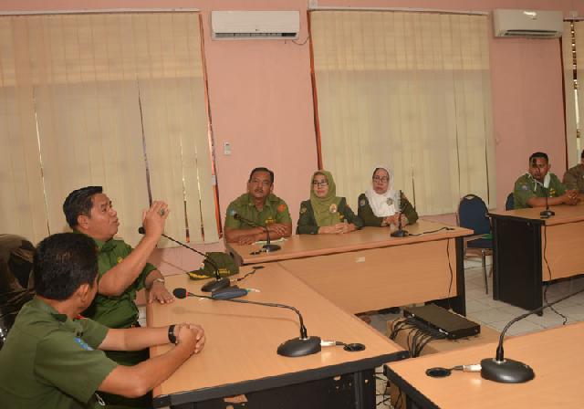
[(498, 383), (524, 383), (527, 381), (531, 381), (536, 374), (533, 372), (533, 369), (529, 365), (523, 362), (514, 361), (510, 359), (505, 359), (505, 353), (503, 351), (503, 339), (505, 338), (506, 331), (509, 329), (511, 325), (516, 323), (518, 320), (523, 320), (527, 316), (531, 314), (537, 314), (537, 312), (547, 309), (547, 307), (551, 307), (554, 304), (557, 304), (564, 299), (569, 299), (581, 292), (584, 291), (584, 288), (568, 294), (561, 299), (556, 299), (553, 302), (548, 302), (547, 304), (539, 307), (538, 309), (533, 309), (529, 312), (526, 312), (519, 317), (516, 317), (513, 320), (510, 320), (505, 328), (501, 331), (501, 336), (499, 337), (499, 344), (496, 347), (496, 355), (495, 358), (485, 358), (481, 361), (481, 376), (489, 381), (495, 381)]

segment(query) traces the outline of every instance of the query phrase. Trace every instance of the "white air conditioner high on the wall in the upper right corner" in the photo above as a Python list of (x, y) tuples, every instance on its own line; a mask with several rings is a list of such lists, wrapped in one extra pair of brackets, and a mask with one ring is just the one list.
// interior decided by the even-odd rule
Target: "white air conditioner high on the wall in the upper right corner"
[(557, 38), (564, 32), (561, 11), (493, 10), (495, 37)]

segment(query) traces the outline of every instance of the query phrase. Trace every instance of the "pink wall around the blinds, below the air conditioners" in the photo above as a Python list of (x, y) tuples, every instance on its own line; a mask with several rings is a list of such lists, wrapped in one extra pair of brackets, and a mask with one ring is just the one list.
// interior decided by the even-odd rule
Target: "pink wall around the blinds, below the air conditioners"
[[(410, 7), (474, 11), (494, 8), (574, 10), (577, 0), (312, 0), (319, 6)], [(202, 10), (204, 47), (213, 115), (216, 168), (222, 213), (245, 189), (249, 171), (266, 165), (276, 172), (276, 194), (283, 196), (296, 221), (298, 205), (308, 196), (308, 178), (317, 166), (312, 114), (308, 43), (290, 41), (214, 41), (210, 38), (212, 9), (300, 10), (300, 42), (307, 37), (308, 0), (3, 0), (0, 10), (68, 10), (98, 8), (177, 8)], [(503, 206), (531, 152), (544, 151), (553, 170), (566, 169), (562, 77), (558, 39), (490, 40), (496, 155), (497, 205)], [(232, 154), (223, 153), (230, 142)], [(452, 217), (451, 217), (452, 219)], [(201, 246), (221, 248), (221, 245)], [(166, 250), (157, 257), (196, 267), (197, 257)], [(195, 266), (193, 266), (193, 264)]]

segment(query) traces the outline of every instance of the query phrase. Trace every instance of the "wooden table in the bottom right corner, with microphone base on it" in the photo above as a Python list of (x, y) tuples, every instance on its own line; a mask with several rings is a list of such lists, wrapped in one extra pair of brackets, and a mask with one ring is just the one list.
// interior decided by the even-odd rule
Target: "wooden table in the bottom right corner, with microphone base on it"
[(392, 362), (385, 373), (414, 408), (577, 408), (583, 404), (583, 339), (582, 322), (506, 339), (506, 358), (527, 363), (536, 373), (527, 383), (495, 383), (478, 372), (454, 371), (445, 378), (425, 374), (428, 368), (452, 368), (494, 357), (496, 342)]

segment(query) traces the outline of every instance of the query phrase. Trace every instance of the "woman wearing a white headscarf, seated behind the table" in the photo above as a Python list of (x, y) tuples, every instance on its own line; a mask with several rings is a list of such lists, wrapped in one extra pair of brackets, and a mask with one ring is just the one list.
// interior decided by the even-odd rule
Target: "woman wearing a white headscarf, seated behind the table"
[[(412, 225), (418, 220), (416, 209), (401, 194), (401, 226)], [(398, 210), (396, 208), (397, 192), (393, 190), (393, 173), (385, 166), (377, 166), (373, 171), (372, 186), (359, 196), (358, 215), (365, 225), (385, 226), (398, 225)]]

